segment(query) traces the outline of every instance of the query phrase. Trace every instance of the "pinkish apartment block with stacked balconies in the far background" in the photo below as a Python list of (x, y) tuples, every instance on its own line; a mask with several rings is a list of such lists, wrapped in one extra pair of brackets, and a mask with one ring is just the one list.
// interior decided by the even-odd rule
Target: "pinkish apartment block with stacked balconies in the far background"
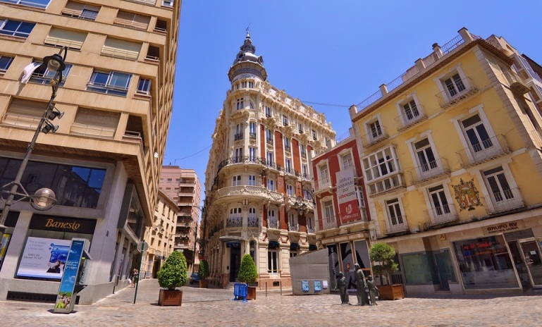
[(188, 271), (197, 271), (202, 183), (194, 169), (162, 166), (160, 190), (173, 199), (179, 209), (173, 247), (185, 254)]

